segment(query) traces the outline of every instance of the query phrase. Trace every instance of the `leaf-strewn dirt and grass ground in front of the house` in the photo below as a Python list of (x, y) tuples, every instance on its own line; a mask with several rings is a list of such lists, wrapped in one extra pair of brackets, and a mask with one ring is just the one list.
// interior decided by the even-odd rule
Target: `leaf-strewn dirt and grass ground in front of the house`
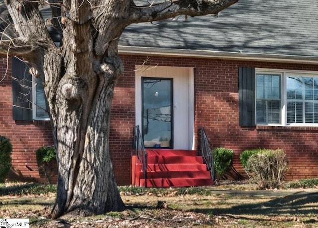
[[(191, 189), (189, 189), (191, 190)], [(55, 194), (1, 196), (0, 217), (29, 218), (34, 228), (314, 228), (318, 189), (248, 190), (208, 187), (206, 194), (121, 192), (123, 212), (47, 219)]]

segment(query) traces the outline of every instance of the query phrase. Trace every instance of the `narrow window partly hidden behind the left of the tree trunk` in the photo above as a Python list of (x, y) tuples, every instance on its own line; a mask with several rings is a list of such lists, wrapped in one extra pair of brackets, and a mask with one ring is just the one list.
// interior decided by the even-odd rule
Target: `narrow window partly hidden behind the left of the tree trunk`
[(33, 119), (48, 120), (48, 105), (44, 93), (43, 83), (40, 78), (32, 77), (33, 82)]

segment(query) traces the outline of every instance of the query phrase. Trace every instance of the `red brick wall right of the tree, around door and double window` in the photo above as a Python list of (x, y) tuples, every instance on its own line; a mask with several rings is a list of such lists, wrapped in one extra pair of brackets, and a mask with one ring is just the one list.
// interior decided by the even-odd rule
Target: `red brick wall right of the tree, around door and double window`
[[(239, 154), (243, 150), (259, 147), (282, 148), (290, 164), (288, 179), (317, 177), (318, 127), (240, 127), (238, 93), (240, 66), (318, 71), (317, 65), (148, 57), (146, 65), (194, 67), (195, 130), (197, 132), (198, 128), (204, 127), (213, 147), (233, 149), (235, 151), (234, 166), (238, 171), (243, 172), (239, 162)], [(116, 110), (112, 111), (112, 116), (116, 116), (112, 118), (112, 132), (117, 132), (117, 135), (118, 132), (125, 132), (125, 134), (122, 133), (125, 140), (121, 138), (121, 142), (123, 140), (131, 142), (130, 132), (134, 126), (135, 107), (129, 105), (128, 99), (134, 102), (135, 65), (143, 64), (146, 59), (147, 56), (122, 56), (125, 73), (117, 84), (113, 106), (117, 110), (121, 107), (125, 112), (120, 114)], [(119, 101), (124, 99), (126, 101), (120, 104)], [(121, 125), (121, 121), (125, 121), (127, 125)], [(129, 128), (128, 132), (127, 128)], [(112, 151), (113, 157), (120, 157), (120, 160), (114, 161), (118, 183), (129, 183), (131, 151), (130, 147), (123, 148), (121, 151), (117, 149)]]

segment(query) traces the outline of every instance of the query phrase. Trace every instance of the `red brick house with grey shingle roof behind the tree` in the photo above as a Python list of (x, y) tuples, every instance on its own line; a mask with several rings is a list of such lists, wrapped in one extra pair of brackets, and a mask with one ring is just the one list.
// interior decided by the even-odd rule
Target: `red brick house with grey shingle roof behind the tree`
[[(135, 125), (142, 126), (144, 135), (147, 131), (145, 145), (153, 147), (160, 141), (167, 143), (161, 147), (173, 149), (196, 149), (198, 129), (204, 127), (213, 147), (235, 151), (238, 171), (242, 171), (239, 154), (243, 150), (282, 148), (290, 164), (288, 179), (317, 177), (315, 3), (240, 0), (219, 15), (129, 26), (120, 40), (125, 72), (115, 88), (111, 118), (110, 151), (117, 183), (131, 183)], [(18, 78), (25, 72), (16, 60), (13, 67), (11, 61), (8, 64), (7, 75)], [(41, 97), (40, 83), (25, 80), (33, 88), (31, 96), (20, 91), (21, 80), (4, 76), (6, 57), (0, 67), (0, 135), (11, 139), (14, 167), (24, 177), (41, 180), (35, 150), (53, 144), (51, 127), (40, 105), (25, 102)], [(161, 87), (155, 91), (154, 85)], [(158, 99), (170, 94), (159, 103), (172, 102), (172, 121), (162, 119), (167, 112), (164, 104), (156, 117), (168, 124), (152, 128), (150, 114), (145, 120), (146, 89)], [(24, 98), (18, 99), (18, 94)], [(160, 138), (154, 133), (158, 129), (163, 132)]]

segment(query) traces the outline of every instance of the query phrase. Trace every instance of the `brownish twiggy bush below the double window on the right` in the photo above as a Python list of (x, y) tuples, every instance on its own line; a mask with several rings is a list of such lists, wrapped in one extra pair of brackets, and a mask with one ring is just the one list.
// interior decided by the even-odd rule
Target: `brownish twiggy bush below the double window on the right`
[(260, 189), (279, 188), (289, 170), (283, 150), (262, 149), (247, 160), (245, 171), (252, 182)]

